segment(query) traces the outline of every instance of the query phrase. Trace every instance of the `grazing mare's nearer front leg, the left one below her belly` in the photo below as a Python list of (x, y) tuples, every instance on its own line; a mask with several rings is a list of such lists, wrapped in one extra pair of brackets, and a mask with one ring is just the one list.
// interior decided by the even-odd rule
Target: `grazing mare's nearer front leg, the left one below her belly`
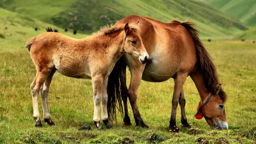
[(179, 99), (180, 99), (180, 93), (182, 90), (182, 86), (184, 82), (186, 81), (188, 74), (176, 74), (176, 77), (174, 78), (174, 90), (173, 90), (173, 97), (172, 97), (172, 113), (170, 118), (170, 129), (174, 130), (175, 132), (178, 132), (179, 129), (176, 126), (176, 110), (178, 107)]

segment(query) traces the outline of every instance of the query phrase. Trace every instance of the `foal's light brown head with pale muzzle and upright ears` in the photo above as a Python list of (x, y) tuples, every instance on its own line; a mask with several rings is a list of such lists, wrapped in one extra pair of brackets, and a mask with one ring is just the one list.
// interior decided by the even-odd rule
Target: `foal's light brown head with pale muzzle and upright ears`
[(124, 26), (125, 40), (123, 51), (138, 59), (140, 63), (145, 64), (148, 61), (148, 53), (142, 43), (138, 28), (133, 28), (129, 24)]

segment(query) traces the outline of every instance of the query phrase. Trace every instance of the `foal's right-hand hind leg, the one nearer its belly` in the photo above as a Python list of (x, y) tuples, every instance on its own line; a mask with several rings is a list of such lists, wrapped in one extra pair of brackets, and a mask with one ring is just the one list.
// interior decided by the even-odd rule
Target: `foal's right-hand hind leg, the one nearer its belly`
[(40, 93), (41, 93), (41, 98), (42, 98), (42, 107), (43, 107), (43, 113), (44, 113), (44, 122), (47, 122), (50, 126), (54, 126), (54, 122), (51, 119), (49, 110), (48, 110), (48, 93), (49, 93), (49, 88), (50, 84), (52, 82), (52, 76), (56, 72), (56, 69), (52, 70), (51, 74), (46, 78), (44, 81), (44, 84), (42, 84)]

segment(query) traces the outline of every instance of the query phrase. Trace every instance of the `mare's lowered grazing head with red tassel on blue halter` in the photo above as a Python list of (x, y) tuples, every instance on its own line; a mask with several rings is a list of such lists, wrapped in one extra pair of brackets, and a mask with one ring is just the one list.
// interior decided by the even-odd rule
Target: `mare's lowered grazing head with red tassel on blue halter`
[(204, 116), (206, 122), (212, 129), (227, 130), (228, 122), (224, 106), (226, 94), (220, 86), (218, 89), (219, 90), (215, 94), (210, 93), (208, 100), (205, 99), (203, 102), (199, 103), (198, 112), (195, 117), (201, 119), (202, 116)]

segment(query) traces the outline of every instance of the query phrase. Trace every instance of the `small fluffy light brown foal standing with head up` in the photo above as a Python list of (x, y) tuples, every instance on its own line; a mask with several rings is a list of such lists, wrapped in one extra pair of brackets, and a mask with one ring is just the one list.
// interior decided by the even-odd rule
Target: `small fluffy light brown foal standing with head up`
[[(38, 93), (41, 93), (44, 121), (55, 125), (47, 104), (52, 76), (60, 72), (73, 78), (90, 78), (94, 91), (94, 124), (100, 124), (100, 103), (102, 104), (102, 120), (106, 128), (111, 128), (107, 113), (108, 76), (118, 59), (129, 54), (142, 64), (148, 60), (148, 53), (139, 35), (137, 24), (123, 24), (102, 28), (92, 37), (77, 40), (63, 34), (52, 32), (31, 38), (26, 44), (30, 56), (36, 66), (36, 77), (30, 88), (32, 92), (35, 126), (42, 126), (38, 110)], [(50, 31), (50, 32), (49, 32)]]

